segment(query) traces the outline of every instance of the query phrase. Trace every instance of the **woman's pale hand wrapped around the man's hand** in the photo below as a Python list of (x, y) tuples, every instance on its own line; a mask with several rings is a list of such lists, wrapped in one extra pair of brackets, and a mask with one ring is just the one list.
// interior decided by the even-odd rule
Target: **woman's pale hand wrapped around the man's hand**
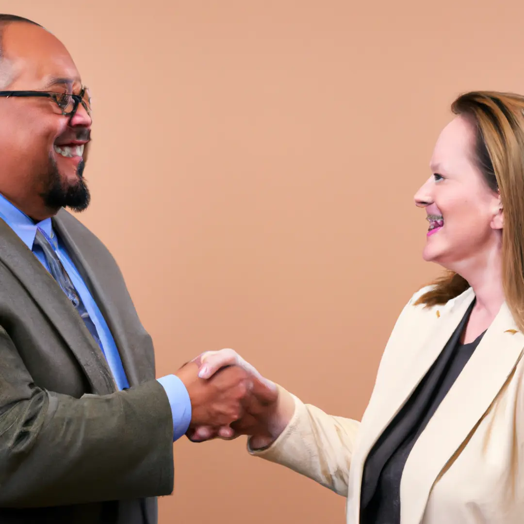
[(216, 436), (233, 439), (244, 434), (250, 436), (253, 448), (259, 448), (269, 445), (286, 428), (294, 412), (291, 395), (285, 390), (279, 391), (274, 383), (261, 376), (238, 353), (231, 349), (210, 351), (202, 353), (192, 362), (199, 365), (199, 377), (206, 380), (221, 373), (224, 367), (241, 368), (252, 377), (253, 387), (242, 402), (242, 417), (222, 428), (194, 425), (187, 433), (190, 440), (201, 442)]

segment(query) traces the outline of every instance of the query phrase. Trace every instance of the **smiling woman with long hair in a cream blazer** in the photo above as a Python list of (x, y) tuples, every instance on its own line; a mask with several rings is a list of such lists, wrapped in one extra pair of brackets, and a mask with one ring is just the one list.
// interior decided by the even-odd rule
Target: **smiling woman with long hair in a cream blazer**
[[(362, 421), (279, 388), (269, 415), (251, 410), (258, 429), (237, 424), (250, 453), (346, 496), (352, 524), (524, 522), (524, 97), (472, 92), (452, 111), (415, 196), (423, 258), (447, 274), (401, 312)], [(204, 377), (246, 365), (202, 361)]]

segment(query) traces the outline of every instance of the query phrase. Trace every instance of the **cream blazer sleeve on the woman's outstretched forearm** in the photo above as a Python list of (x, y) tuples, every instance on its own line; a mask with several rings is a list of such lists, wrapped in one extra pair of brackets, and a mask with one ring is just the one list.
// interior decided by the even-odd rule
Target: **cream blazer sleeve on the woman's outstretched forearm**
[(329, 415), (292, 397), (295, 410), (286, 429), (264, 450), (253, 450), (248, 444), (249, 453), (347, 496), (351, 456), (360, 423)]

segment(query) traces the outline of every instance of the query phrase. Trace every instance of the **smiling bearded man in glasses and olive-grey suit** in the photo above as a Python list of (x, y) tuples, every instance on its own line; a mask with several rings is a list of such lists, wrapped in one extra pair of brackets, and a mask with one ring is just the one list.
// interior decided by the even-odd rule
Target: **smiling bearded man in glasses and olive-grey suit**
[(41, 26), (0, 15), (0, 42), (0, 522), (154, 524), (173, 441), (276, 393), (240, 366), (155, 379), (117, 264), (65, 210), (90, 201), (89, 91)]

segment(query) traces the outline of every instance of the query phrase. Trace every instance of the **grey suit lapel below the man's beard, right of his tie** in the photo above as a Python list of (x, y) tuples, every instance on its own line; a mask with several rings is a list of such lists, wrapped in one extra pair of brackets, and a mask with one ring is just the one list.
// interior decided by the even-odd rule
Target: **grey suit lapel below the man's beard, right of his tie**
[(60, 235), (60, 239), (68, 250), (75, 267), (80, 273), (85, 285), (88, 287), (96, 305), (99, 307), (104, 316), (107, 326), (111, 331), (115, 341), (118, 353), (122, 360), (122, 365), (126, 373), (127, 380), (131, 387), (140, 384), (141, 377), (139, 374), (140, 355), (133, 354), (127, 343), (126, 329), (121, 322), (121, 316), (117, 314), (118, 308), (113, 304), (111, 294), (111, 282), (104, 282), (104, 273), (97, 271), (95, 274), (94, 267), (97, 265), (96, 252), (93, 249), (86, 248), (82, 243), (77, 242), (65, 220), (62, 220), (64, 210), (60, 211), (53, 219), (53, 227)]

